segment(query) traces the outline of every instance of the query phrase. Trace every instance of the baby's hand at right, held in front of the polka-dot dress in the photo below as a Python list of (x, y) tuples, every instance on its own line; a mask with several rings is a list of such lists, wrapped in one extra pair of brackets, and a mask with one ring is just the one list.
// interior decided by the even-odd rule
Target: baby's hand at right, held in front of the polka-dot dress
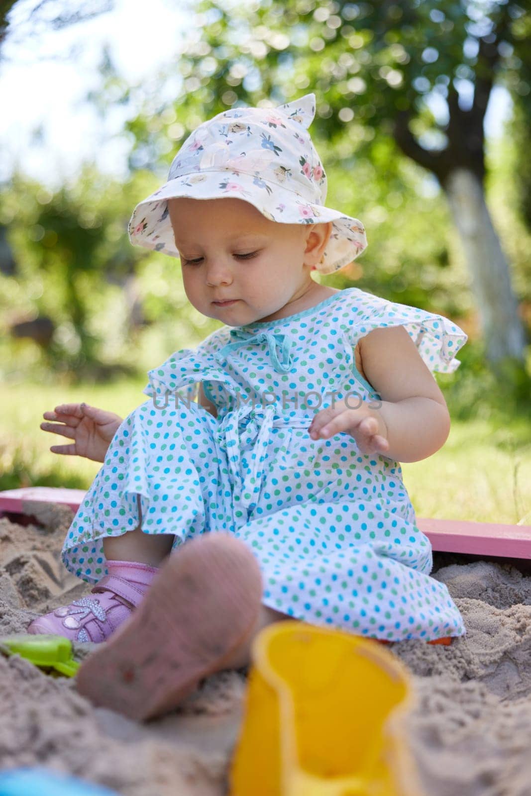
[(389, 450), (388, 430), (381, 412), (365, 404), (350, 409), (344, 400), (338, 400), (333, 407), (322, 409), (314, 416), (308, 431), (311, 439), (329, 439), (346, 431), (364, 454), (385, 454)]

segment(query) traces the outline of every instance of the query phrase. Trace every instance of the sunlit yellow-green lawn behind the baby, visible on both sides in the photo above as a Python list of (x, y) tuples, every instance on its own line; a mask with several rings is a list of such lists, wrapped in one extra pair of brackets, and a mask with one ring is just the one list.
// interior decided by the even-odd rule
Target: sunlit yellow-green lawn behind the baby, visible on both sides
[[(87, 489), (100, 465), (49, 451), (64, 438), (41, 431), (42, 413), (86, 401), (126, 416), (143, 403), (145, 379), (107, 385), (0, 388), (0, 489), (69, 486)], [(454, 419), (444, 447), (402, 465), (418, 517), (531, 525), (531, 428), (523, 417)], [(64, 443), (67, 440), (64, 439)]]

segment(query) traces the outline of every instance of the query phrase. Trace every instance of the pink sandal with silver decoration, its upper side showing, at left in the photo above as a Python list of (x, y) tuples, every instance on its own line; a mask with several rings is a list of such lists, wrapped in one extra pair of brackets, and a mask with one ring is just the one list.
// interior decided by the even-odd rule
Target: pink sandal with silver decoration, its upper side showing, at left
[(141, 603), (158, 572), (130, 561), (107, 561), (108, 575), (91, 589), (97, 597), (81, 597), (68, 606), (33, 619), (27, 632), (52, 633), (76, 642), (104, 642)]

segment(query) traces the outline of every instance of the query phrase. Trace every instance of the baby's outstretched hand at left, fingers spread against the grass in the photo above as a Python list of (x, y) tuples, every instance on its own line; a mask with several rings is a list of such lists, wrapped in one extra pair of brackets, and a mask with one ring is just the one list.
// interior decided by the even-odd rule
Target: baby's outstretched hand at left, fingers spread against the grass
[(43, 431), (61, 434), (73, 439), (70, 445), (52, 445), (50, 451), (71, 456), (84, 456), (94, 462), (103, 462), (107, 448), (122, 418), (104, 409), (88, 404), (61, 404), (53, 412), (45, 412), (45, 420), (57, 423), (41, 423)]

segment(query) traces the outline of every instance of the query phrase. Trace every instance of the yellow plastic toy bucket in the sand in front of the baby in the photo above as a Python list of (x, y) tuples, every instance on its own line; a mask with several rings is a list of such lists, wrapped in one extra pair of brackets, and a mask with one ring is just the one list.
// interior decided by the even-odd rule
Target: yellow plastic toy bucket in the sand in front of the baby
[(371, 639), (276, 622), (252, 646), (230, 796), (424, 796), (408, 671)]

